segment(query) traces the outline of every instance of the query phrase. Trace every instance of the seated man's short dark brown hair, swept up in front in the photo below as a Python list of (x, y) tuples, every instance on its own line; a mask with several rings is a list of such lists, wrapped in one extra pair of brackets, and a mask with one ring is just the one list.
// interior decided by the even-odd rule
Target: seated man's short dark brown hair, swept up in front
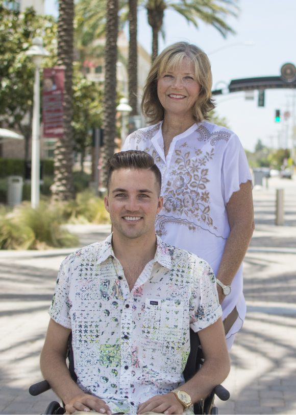
[(115, 153), (108, 159), (107, 162), (107, 189), (109, 192), (109, 183), (111, 175), (115, 170), (119, 169), (143, 169), (151, 170), (156, 179), (157, 186), (159, 187), (159, 193), (161, 190), (161, 173), (159, 168), (154, 163), (154, 158), (140, 150), (128, 150)]

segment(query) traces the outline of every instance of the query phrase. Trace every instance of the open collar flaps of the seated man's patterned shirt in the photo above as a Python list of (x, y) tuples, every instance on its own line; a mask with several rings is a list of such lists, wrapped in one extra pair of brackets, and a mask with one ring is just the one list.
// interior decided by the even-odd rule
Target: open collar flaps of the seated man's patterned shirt
[[(156, 235), (156, 252), (153, 261), (158, 262), (165, 268), (171, 269), (171, 256), (173, 252), (174, 248), (165, 244), (159, 236)], [(101, 262), (106, 261), (109, 257), (115, 258), (112, 248), (112, 234), (102, 242), (100, 253), (97, 257), (97, 263), (100, 264)]]

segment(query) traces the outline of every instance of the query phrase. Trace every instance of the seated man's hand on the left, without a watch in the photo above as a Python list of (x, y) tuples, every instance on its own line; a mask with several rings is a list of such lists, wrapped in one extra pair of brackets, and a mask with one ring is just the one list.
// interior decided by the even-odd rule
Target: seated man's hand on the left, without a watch
[(109, 406), (100, 398), (88, 394), (79, 394), (73, 397), (65, 405), (66, 413), (73, 413), (76, 411), (89, 412), (93, 409), (96, 412), (111, 414)]

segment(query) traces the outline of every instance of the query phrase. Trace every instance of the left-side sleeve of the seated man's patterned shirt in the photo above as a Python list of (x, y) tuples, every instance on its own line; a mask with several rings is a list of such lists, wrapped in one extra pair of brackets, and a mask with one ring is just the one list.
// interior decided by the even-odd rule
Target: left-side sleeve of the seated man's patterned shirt
[(71, 329), (71, 319), (69, 314), (70, 270), (69, 265), (67, 264), (67, 260), (64, 260), (60, 266), (53, 301), (48, 313), (58, 324), (66, 329)]

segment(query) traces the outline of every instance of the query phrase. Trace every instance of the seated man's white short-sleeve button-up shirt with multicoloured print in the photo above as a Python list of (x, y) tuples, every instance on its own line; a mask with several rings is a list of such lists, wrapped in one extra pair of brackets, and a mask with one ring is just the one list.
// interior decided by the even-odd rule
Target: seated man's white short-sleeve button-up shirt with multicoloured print
[(184, 383), (189, 327), (213, 324), (221, 307), (208, 263), (159, 237), (130, 291), (111, 241), (62, 262), (50, 315), (72, 330), (78, 385), (113, 412), (136, 413), (140, 403)]

